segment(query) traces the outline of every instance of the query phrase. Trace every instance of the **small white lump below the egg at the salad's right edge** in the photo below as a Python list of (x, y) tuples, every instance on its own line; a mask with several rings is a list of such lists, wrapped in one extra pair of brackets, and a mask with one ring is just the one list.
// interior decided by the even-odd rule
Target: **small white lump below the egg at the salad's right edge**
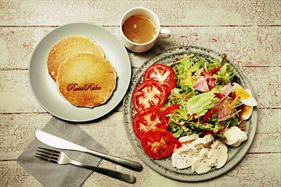
[(242, 141), (247, 140), (246, 132), (241, 131), (236, 126), (226, 129), (224, 135), (226, 138), (225, 143), (233, 147), (237, 147), (242, 143)]

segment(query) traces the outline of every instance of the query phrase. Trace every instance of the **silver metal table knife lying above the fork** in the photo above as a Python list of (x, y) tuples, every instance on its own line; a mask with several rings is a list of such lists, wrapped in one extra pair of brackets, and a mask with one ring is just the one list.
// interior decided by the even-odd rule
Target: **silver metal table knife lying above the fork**
[(72, 143), (67, 140), (63, 140), (61, 138), (58, 138), (54, 135), (50, 135), (48, 133), (45, 133), (43, 131), (36, 131), (36, 138), (40, 140), (42, 143), (45, 143), (46, 145), (49, 145), (51, 147), (55, 147), (58, 149), (65, 149), (65, 150), (75, 150), (75, 151), (80, 151), (80, 152), (85, 152), (94, 156), (98, 156), (100, 158), (103, 158), (105, 160), (108, 160), (110, 162), (113, 162), (115, 164), (118, 164), (120, 166), (129, 168), (134, 171), (141, 171), (142, 170), (142, 165), (131, 161), (127, 160), (124, 158), (119, 158), (116, 156), (108, 155), (102, 152), (94, 151), (91, 149), (88, 149), (86, 147), (77, 145), (75, 143)]

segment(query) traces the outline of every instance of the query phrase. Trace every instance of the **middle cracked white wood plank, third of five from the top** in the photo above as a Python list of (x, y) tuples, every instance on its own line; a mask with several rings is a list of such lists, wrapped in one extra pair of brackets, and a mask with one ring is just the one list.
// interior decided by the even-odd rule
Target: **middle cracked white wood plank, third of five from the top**
[[(242, 67), (242, 71), (258, 107), (281, 107), (281, 67)], [(31, 92), (27, 70), (0, 71), (0, 98), (0, 113), (46, 112)]]

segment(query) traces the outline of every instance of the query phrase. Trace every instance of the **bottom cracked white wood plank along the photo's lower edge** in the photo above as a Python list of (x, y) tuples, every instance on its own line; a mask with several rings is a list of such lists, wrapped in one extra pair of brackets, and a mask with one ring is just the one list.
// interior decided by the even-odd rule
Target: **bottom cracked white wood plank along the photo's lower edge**
[[(146, 165), (142, 172), (134, 172), (110, 162), (102, 161), (100, 166), (134, 175), (137, 178), (132, 187), (202, 187), (202, 186), (281, 186), (281, 154), (246, 155), (233, 169), (222, 176), (198, 183), (184, 183), (171, 180), (156, 173)], [(36, 186), (42, 185), (15, 161), (0, 162), (0, 186)], [(93, 173), (83, 187), (127, 187), (128, 184), (116, 179)]]

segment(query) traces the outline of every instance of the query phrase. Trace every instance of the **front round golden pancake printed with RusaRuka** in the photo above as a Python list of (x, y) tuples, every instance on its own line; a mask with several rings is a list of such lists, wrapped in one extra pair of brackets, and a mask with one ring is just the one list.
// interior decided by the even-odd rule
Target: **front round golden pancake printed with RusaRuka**
[[(79, 56), (82, 56), (82, 57), (88, 56), (88, 58), (92, 58), (92, 60), (96, 59), (98, 61), (92, 62), (90, 64), (89, 64), (89, 61), (81, 62), (81, 61), (79, 61), (79, 58), (81, 58)], [(89, 56), (91, 56), (91, 57), (89, 57)], [(75, 62), (72, 62), (72, 60), (74, 60), (74, 59), (77, 60), (76, 64), (75, 64)], [(74, 75), (73, 75), (74, 69), (77, 67), (81, 68), (83, 66), (83, 63), (87, 64), (86, 67), (84, 67), (84, 68), (87, 68), (87, 67), (99, 68), (98, 70), (92, 69), (92, 71), (90, 71), (96, 75), (92, 76), (89, 74), (89, 72), (83, 72), (83, 68), (78, 70), (78, 72), (74, 73)], [(70, 67), (70, 74), (72, 74), (72, 76), (74, 76), (74, 78), (71, 75), (69, 75), (69, 72), (68, 73), (64, 72), (65, 70), (67, 71), (67, 66), (73, 66), (73, 67)], [(85, 64), (84, 64), (84, 66), (85, 66)], [(64, 73), (62, 73), (62, 72), (64, 72)], [(83, 75), (87, 74), (90, 77), (90, 79), (92, 79), (92, 80), (86, 80), (86, 81), (82, 80), (81, 81), (81, 77), (79, 80), (80, 73), (83, 73)], [(87, 75), (86, 75), (86, 79), (87, 79)], [(107, 59), (105, 59), (105, 58), (101, 57), (100, 55), (97, 55), (96, 53), (93, 53), (93, 52), (79, 52), (79, 53), (73, 54), (72, 56), (69, 56), (60, 65), (60, 67), (58, 69), (56, 86), (57, 86), (59, 94), (64, 99), (66, 99), (68, 102), (70, 102), (71, 104), (73, 104), (75, 106), (84, 106), (84, 107), (92, 108), (94, 106), (98, 106), (98, 105), (101, 105), (101, 104), (107, 102), (108, 99), (112, 96), (112, 93), (116, 88), (116, 77), (117, 76), (114, 71), (114, 68)], [(65, 83), (64, 83), (63, 81), (61, 81), (61, 79), (68, 79), (68, 80), (67, 81), (64, 80), (65, 81)], [(94, 81), (94, 82), (96, 81), (96, 83), (91, 82), (91, 81)], [(79, 84), (78, 84), (78, 82), (79, 82)], [(73, 91), (74, 89), (72, 89), (71, 91), (67, 91), (66, 86), (68, 87), (70, 84), (77, 84), (74, 88), (83, 87), (86, 84), (95, 84), (95, 86), (97, 86), (97, 85), (98, 85), (98, 87), (101, 86), (102, 87), (101, 90), (103, 90), (103, 91), (96, 90), (96, 91), (91, 91), (90, 93), (89, 93), (89, 90)]]

